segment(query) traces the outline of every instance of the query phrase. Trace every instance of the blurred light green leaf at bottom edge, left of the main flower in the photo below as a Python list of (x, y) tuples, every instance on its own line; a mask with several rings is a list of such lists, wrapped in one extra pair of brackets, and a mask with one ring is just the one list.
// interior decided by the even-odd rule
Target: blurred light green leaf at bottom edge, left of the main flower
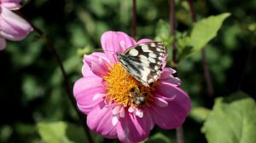
[(38, 132), (45, 143), (74, 143), (66, 136), (67, 123), (38, 123)]

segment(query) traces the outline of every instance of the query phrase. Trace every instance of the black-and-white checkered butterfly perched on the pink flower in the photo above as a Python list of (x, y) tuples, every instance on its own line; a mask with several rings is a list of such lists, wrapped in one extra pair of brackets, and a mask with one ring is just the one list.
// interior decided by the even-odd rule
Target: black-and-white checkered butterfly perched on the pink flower
[(139, 43), (125, 50), (124, 54), (117, 54), (119, 63), (144, 86), (149, 87), (160, 77), (161, 66), (166, 50), (163, 43)]

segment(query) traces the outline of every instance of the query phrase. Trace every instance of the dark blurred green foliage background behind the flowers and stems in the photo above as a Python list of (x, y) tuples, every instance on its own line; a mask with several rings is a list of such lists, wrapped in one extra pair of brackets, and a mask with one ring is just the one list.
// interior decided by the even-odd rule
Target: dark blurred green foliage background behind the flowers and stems
[[(55, 44), (73, 87), (81, 77), (83, 54), (101, 48), (100, 37), (104, 31), (125, 31), (131, 35), (131, 2), (31, 0), (20, 12)], [(198, 20), (225, 12), (231, 14), (218, 36), (206, 46), (214, 97), (225, 97), (238, 89), (253, 96), (256, 1), (196, 0), (193, 5)], [(169, 1), (137, 0), (137, 39), (154, 39), (160, 20), (169, 21)], [(177, 33), (191, 31), (193, 22), (187, 1), (176, 1), (176, 26)], [(67, 139), (61, 142), (86, 142), (54, 54), (38, 33), (32, 32), (21, 42), (9, 41), (7, 48), (0, 52), (0, 65), (0, 142), (57, 142), (49, 141), (49, 134), (57, 136), (65, 129), (63, 134)], [(193, 109), (200, 112), (192, 110), (195, 114), (183, 124), (185, 140), (207, 142), (201, 127), (214, 99), (207, 96), (201, 53), (181, 60), (177, 75), (191, 97)], [(118, 142), (91, 134), (96, 142)], [(155, 127), (150, 139), (154, 142), (155, 138), (176, 142), (175, 130)]]

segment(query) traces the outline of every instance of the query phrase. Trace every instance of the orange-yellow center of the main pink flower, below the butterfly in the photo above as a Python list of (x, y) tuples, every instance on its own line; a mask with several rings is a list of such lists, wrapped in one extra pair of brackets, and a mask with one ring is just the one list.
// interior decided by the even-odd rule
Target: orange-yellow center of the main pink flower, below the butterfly
[[(112, 100), (115, 103), (123, 106), (150, 106), (150, 102), (154, 100), (151, 87), (145, 87), (143, 84), (139, 83), (134, 77), (119, 64), (114, 64), (110, 67), (108, 76), (104, 76), (108, 82), (106, 89), (108, 89), (108, 94), (106, 95), (107, 100)], [(138, 89), (138, 91), (134, 91)], [(139, 102), (141, 99), (145, 102)], [(137, 103), (142, 104), (137, 104)]]

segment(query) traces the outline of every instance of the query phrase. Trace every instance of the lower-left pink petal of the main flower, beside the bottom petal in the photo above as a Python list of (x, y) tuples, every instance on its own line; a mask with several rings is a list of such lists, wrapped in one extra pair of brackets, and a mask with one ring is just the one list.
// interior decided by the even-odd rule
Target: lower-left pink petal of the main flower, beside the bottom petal
[(116, 126), (112, 125), (112, 116), (111, 108), (101, 103), (88, 114), (88, 127), (106, 138), (117, 138)]

